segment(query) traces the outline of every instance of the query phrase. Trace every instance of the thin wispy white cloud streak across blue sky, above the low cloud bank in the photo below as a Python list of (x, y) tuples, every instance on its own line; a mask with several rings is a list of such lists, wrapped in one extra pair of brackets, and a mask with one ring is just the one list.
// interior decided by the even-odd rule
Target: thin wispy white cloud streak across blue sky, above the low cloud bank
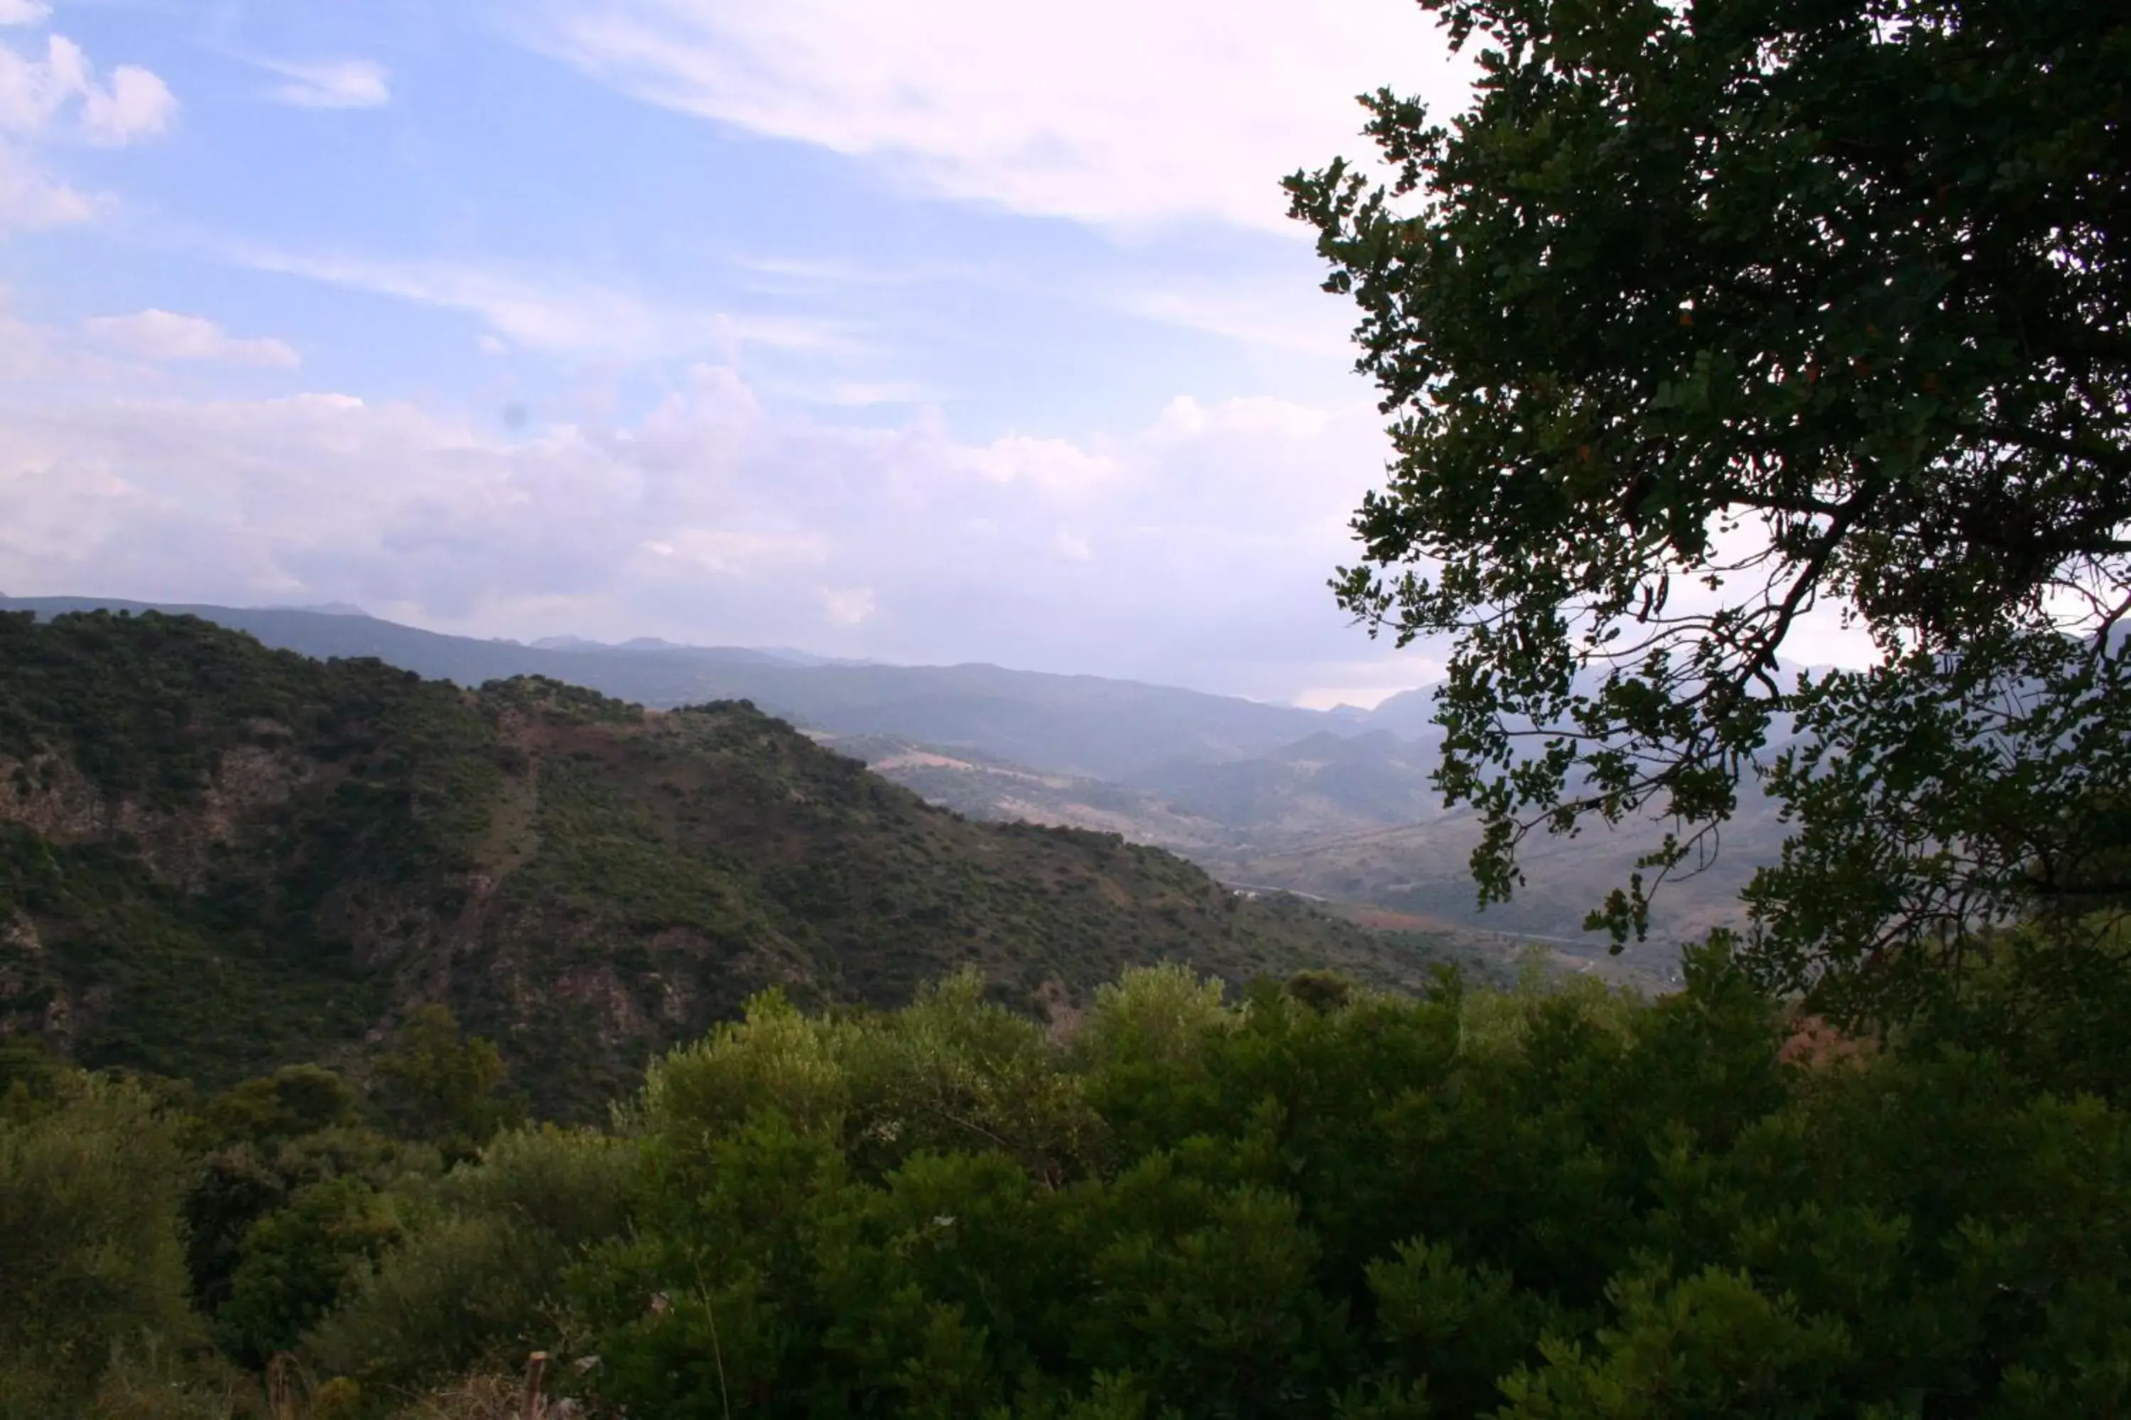
[[(748, 345), (816, 351), (850, 347), (848, 334), (827, 321), (690, 309), (554, 270), (269, 249), (241, 249), (230, 255), (256, 270), (465, 311), (486, 321), (490, 336), (546, 353), (731, 362)], [(501, 353), (488, 343), (482, 349)]]

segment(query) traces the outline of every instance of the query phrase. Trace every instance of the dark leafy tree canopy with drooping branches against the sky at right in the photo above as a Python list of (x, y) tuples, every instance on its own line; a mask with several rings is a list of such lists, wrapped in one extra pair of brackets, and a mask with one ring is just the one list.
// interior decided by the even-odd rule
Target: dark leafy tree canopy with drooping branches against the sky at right
[[(2131, 13), (1421, 4), (1475, 104), (1383, 89), (1396, 177), (1289, 192), (1394, 415), (1334, 588), (1453, 637), (1483, 898), (1541, 826), (1671, 815), (1594, 915), (1643, 930), (1760, 779), (1794, 815), (1747, 894), (1771, 984), (2122, 901)], [(1835, 609), (1880, 666), (1801, 675)]]

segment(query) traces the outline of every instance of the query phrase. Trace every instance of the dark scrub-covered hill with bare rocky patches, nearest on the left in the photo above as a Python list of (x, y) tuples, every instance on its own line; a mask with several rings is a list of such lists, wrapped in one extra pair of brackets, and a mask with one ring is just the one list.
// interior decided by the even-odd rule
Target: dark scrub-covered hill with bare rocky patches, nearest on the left
[(967, 964), (1061, 1016), (1161, 958), (1421, 975), (1170, 854), (961, 820), (744, 703), (0, 615), (0, 1030), (90, 1064), (219, 1084), (445, 1001), (575, 1113), (771, 984), (893, 1005)]

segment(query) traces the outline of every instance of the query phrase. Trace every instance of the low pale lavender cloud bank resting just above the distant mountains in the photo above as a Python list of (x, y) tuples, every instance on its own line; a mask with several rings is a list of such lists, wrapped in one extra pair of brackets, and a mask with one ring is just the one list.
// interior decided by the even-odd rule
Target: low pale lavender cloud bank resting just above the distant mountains
[(631, 426), (526, 439), (341, 394), (15, 402), (0, 588), (352, 600), (482, 634), (795, 643), (1287, 698), (1421, 679), (1321, 664), (1328, 647), (1368, 660), (1323, 579), (1379, 466), (1366, 404), (1178, 398), (1117, 436), (963, 443), (938, 415), (778, 413), (718, 366)]

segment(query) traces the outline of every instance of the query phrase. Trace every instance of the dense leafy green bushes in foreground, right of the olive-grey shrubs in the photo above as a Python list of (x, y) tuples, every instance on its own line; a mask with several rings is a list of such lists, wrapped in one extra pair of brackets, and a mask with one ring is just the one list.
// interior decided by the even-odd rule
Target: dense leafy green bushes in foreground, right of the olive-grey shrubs
[[(1963, 1028), (1999, 994), (1975, 984)], [(663, 1416), (2131, 1401), (2114, 1103), (1922, 1026), (1786, 1064), (1722, 947), (1656, 1005), (1302, 996), (1140, 973), (1066, 1056), (997, 1037), (967, 986), (876, 1020), (763, 1003), (652, 1075), (637, 1226), (567, 1288), (592, 1392)]]

